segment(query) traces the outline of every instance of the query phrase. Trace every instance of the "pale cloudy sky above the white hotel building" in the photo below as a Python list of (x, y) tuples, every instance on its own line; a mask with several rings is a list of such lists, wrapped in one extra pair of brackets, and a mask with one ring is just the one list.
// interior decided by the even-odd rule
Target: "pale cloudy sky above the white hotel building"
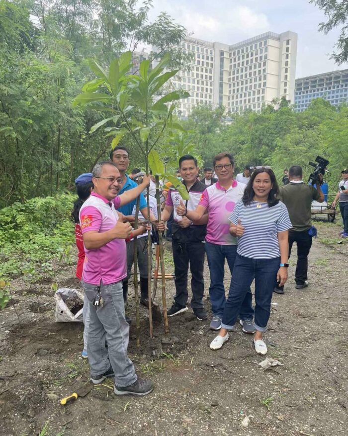
[(343, 70), (328, 54), (339, 30), (318, 32), (322, 11), (308, 0), (154, 0), (150, 20), (166, 11), (196, 38), (234, 44), (261, 33), (291, 30), (298, 34), (296, 78)]

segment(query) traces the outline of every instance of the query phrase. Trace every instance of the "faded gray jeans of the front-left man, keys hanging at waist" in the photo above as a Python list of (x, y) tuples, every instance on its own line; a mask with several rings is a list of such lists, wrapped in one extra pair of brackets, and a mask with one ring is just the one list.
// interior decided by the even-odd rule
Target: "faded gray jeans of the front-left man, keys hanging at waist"
[[(129, 386), (136, 382), (137, 375), (132, 361), (127, 355), (129, 325), (125, 319), (122, 281), (103, 285), (100, 293), (102, 306), (93, 306), (97, 286), (83, 283), (89, 300), (89, 329), (87, 354), (90, 375), (97, 378), (108, 371), (110, 365), (115, 374), (115, 385)], [(105, 339), (108, 348), (105, 347)]]

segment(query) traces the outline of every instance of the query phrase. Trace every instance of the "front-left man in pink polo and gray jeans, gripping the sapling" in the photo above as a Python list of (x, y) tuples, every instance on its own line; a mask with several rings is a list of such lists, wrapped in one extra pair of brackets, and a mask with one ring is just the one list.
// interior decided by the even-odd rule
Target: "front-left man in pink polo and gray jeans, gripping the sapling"
[[(154, 385), (137, 377), (127, 355), (129, 325), (125, 319), (122, 279), (126, 271), (126, 242), (132, 227), (116, 209), (133, 201), (150, 183), (144, 177), (138, 187), (117, 197), (120, 173), (110, 161), (95, 165), (93, 192), (80, 210), (85, 263), (82, 273), (90, 321), (87, 354), (94, 384), (115, 377), (116, 395), (147, 395)], [(108, 348), (105, 347), (105, 340)]]

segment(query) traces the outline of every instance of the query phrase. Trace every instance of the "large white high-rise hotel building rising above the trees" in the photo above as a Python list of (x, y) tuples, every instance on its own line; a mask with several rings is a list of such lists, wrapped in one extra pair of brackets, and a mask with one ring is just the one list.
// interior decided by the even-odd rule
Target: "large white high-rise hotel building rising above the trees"
[(233, 45), (186, 38), (182, 48), (192, 55), (190, 70), (174, 77), (174, 87), (191, 95), (179, 102), (183, 117), (198, 104), (241, 112), (260, 110), (283, 96), (294, 102), (294, 32), (267, 32)]

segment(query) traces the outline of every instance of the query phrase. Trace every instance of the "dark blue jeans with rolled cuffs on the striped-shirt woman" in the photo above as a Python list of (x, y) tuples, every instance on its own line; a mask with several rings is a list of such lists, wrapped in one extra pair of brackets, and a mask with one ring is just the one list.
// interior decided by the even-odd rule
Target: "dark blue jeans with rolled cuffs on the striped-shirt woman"
[(237, 254), (221, 327), (232, 330), (255, 278), (255, 328), (266, 331), (280, 257), (251, 259)]

